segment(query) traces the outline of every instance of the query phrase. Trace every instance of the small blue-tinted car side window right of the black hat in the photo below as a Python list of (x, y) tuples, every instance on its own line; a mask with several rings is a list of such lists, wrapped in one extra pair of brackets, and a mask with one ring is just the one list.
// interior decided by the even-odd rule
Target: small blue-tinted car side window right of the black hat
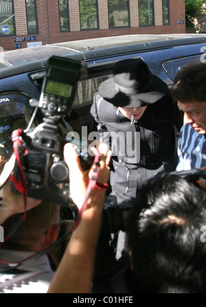
[(163, 68), (170, 75), (170, 77), (174, 80), (177, 72), (181, 70), (181, 68), (189, 62), (196, 62), (201, 60), (201, 55), (193, 55), (190, 57), (181, 57), (179, 59), (172, 59), (169, 61), (163, 62)]

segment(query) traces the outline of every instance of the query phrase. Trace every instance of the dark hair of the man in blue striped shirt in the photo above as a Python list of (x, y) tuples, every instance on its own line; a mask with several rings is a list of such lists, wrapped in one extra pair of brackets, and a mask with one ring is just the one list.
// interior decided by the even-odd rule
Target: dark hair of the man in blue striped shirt
[(171, 94), (174, 101), (206, 101), (206, 63), (189, 63), (177, 72)]

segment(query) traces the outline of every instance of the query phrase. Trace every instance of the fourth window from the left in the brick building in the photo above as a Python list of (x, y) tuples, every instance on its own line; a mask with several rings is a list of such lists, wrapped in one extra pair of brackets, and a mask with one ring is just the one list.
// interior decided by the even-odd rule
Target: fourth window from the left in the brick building
[(80, 0), (81, 30), (98, 29), (98, 0)]

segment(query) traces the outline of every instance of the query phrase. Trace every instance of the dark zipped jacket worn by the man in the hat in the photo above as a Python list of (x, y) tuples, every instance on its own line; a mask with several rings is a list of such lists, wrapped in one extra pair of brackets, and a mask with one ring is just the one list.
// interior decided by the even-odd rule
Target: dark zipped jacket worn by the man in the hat
[[(132, 126), (119, 108), (105, 101), (99, 93), (94, 95), (91, 115), (98, 124), (102, 141), (108, 143), (108, 138), (112, 139), (110, 183), (112, 195), (117, 196), (118, 202), (134, 199), (142, 184), (157, 172), (176, 168), (175, 131), (180, 130), (183, 122), (169, 93), (148, 106)], [(125, 144), (119, 146), (121, 136)]]

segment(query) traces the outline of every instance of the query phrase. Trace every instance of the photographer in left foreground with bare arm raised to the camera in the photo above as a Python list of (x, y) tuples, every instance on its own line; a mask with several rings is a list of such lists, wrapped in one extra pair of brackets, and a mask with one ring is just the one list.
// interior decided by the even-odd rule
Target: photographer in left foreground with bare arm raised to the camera
[[(105, 188), (100, 188), (101, 184), (104, 184), (108, 180), (109, 170), (106, 162), (107, 148), (104, 144), (98, 146), (99, 152), (102, 155), (100, 161), (100, 174), (98, 176), (98, 188), (94, 188), (87, 200), (87, 208), (82, 212), (82, 217), (75, 230), (73, 230), (71, 239), (65, 251), (65, 255), (60, 262), (58, 270), (54, 274), (51, 268), (49, 268), (49, 262), (45, 259), (46, 255), (41, 255), (33, 259), (32, 266), (31, 253), (35, 254), (41, 250), (47, 248), (58, 237), (58, 210), (59, 207), (52, 205), (38, 204), (38, 201), (33, 203), (28, 201), (27, 209), (31, 206), (35, 206), (32, 210), (27, 212), (25, 221), (16, 230), (14, 236), (18, 237), (18, 232), (24, 232), (27, 239), (16, 241), (10, 239), (1, 244), (0, 259), (3, 261), (5, 258), (8, 261), (8, 255), (12, 257), (12, 263), (15, 261), (19, 266), (15, 270), (8, 270), (5, 273), (1, 273), (0, 282), (1, 291), (3, 293), (46, 293), (49, 288), (49, 293), (89, 293), (91, 288), (91, 280), (93, 277), (93, 263), (95, 257), (95, 247), (98, 241), (98, 234), (101, 225), (102, 206), (105, 197)], [(64, 150), (65, 161), (69, 167), (69, 181), (70, 181), (70, 193), (74, 203), (80, 208), (84, 200), (84, 195), (89, 183), (89, 175), (93, 171), (82, 171), (80, 166), (80, 159), (76, 153), (76, 150), (67, 144)], [(104, 186), (103, 186), (104, 187)], [(17, 208), (14, 201), (17, 200)], [(6, 215), (13, 215), (16, 212), (23, 212), (23, 198), (19, 195), (14, 195), (10, 191), (10, 182), (1, 189), (1, 210), (6, 212)], [(7, 210), (8, 205), (8, 210)], [(51, 213), (51, 220), (48, 221), (47, 214), (43, 216), (43, 212), (50, 208), (54, 210)], [(34, 211), (33, 211), (34, 210)], [(33, 212), (34, 215), (33, 215)], [(37, 215), (37, 212), (41, 212), (41, 218)], [(38, 226), (40, 219), (43, 219), (43, 229), (39, 230)], [(30, 224), (30, 219), (35, 222)], [(2, 219), (1, 219), (2, 220)], [(48, 223), (47, 223), (47, 221)], [(25, 225), (25, 226), (24, 226)], [(28, 227), (30, 225), (30, 227)], [(29, 232), (30, 229), (30, 232)], [(30, 237), (30, 233), (36, 234), (36, 238)], [(6, 250), (5, 250), (6, 248)], [(26, 248), (26, 250), (25, 250)], [(9, 251), (8, 251), (9, 250)], [(16, 252), (13, 252), (15, 250)], [(19, 252), (28, 252), (28, 259), (24, 259), (21, 263), (19, 257), (15, 259), (15, 255), (19, 255)], [(25, 256), (25, 254), (24, 254)], [(4, 258), (4, 259), (3, 259)], [(42, 262), (43, 261), (43, 262)], [(41, 265), (40, 265), (41, 264)], [(49, 287), (52, 277), (52, 284)], [(27, 281), (27, 282), (25, 282)]]

